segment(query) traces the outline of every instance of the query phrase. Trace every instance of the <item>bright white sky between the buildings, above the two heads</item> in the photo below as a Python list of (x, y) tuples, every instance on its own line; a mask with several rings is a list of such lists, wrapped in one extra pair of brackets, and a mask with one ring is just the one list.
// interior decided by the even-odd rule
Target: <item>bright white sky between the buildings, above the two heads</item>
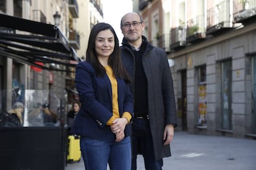
[(120, 30), (121, 17), (132, 12), (132, 0), (103, 0), (103, 20), (113, 26), (119, 42), (122, 42)]

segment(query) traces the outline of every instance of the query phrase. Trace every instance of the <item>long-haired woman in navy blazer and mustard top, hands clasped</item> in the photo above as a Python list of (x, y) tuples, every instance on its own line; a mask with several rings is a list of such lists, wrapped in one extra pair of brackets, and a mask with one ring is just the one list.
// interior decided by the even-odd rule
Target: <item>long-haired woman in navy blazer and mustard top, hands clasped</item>
[(108, 23), (93, 26), (86, 62), (75, 68), (81, 108), (71, 133), (80, 135), (85, 169), (129, 169), (131, 79), (122, 67), (119, 41)]

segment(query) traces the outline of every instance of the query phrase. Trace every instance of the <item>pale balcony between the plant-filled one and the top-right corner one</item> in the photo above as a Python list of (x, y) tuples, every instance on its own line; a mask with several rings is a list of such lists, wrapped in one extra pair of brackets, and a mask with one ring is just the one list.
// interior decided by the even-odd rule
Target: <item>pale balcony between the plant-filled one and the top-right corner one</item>
[(207, 10), (207, 34), (233, 27), (229, 0)]

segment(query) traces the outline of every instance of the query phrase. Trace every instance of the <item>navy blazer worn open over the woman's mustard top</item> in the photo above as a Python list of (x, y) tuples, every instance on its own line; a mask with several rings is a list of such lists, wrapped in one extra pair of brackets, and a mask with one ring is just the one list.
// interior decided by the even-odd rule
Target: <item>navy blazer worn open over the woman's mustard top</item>
[[(133, 114), (134, 99), (124, 79), (116, 78), (119, 115), (125, 111)], [(113, 141), (107, 121), (113, 116), (112, 89), (108, 76), (97, 76), (88, 62), (80, 62), (75, 68), (75, 86), (79, 92), (81, 107), (71, 128), (72, 134), (98, 140)], [(130, 136), (130, 124), (126, 125), (125, 135)]]

